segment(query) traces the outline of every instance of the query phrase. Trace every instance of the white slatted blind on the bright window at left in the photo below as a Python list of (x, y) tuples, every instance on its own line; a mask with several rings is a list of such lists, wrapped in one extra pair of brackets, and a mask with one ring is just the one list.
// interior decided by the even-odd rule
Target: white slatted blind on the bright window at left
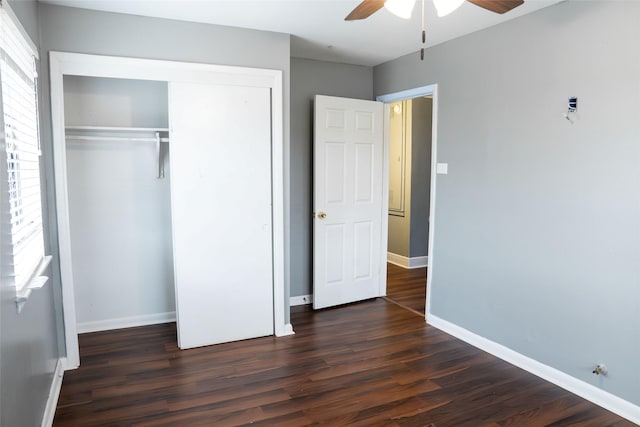
[[(4, 120), (13, 277), (20, 292), (33, 287), (44, 260), (35, 54), (0, 3), (0, 80)], [(4, 208), (4, 207), (3, 207)], [(42, 280), (36, 280), (42, 283)]]

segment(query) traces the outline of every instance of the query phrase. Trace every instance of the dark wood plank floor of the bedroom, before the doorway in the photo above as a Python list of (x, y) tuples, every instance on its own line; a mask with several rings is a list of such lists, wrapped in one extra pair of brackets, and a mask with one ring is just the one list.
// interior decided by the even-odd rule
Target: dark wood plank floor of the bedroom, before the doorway
[(631, 426), (385, 299), (296, 335), (180, 351), (175, 324), (80, 336), (55, 426)]

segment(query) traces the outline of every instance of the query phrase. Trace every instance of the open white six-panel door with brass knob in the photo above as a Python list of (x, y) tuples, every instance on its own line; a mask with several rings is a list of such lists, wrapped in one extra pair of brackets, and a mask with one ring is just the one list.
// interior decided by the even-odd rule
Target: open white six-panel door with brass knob
[(383, 104), (316, 96), (313, 307), (380, 296)]

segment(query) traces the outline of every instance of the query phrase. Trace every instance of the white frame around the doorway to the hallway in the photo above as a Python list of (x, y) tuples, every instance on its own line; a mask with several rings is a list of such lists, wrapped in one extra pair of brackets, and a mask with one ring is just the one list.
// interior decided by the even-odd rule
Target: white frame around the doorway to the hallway
[[(415, 89), (407, 89), (400, 92), (394, 92), (387, 95), (380, 95), (376, 97), (376, 101), (385, 103), (385, 112), (384, 112), (384, 120), (385, 120), (385, 137), (384, 137), (384, 164), (385, 164), (385, 176), (386, 176), (386, 188), (385, 194), (389, 193), (389, 147), (391, 145), (390, 135), (389, 135), (389, 116), (390, 116), (390, 104), (392, 102), (404, 101), (405, 99), (410, 98), (418, 98), (421, 96), (431, 95), (433, 97), (433, 112), (432, 112), (432, 125), (431, 125), (431, 193), (429, 196), (429, 244), (428, 244), (428, 261), (427, 261), (427, 293), (426, 293), (426, 302), (425, 302), (425, 313), (424, 319), (425, 322), (428, 323), (428, 318), (431, 315), (431, 284), (433, 278), (433, 236), (435, 234), (435, 212), (436, 212), (436, 164), (438, 161), (438, 85), (432, 84), (428, 86), (417, 87)], [(389, 197), (386, 197), (388, 203)], [(388, 209), (388, 206), (387, 206)], [(383, 233), (384, 233), (384, 249), (385, 252), (383, 256), (385, 258), (386, 265), (386, 257), (387, 257), (387, 244), (388, 244), (388, 232), (389, 232), (389, 216), (385, 215), (385, 220), (383, 220)], [(381, 295), (386, 295), (386, 287), (387, 281), (386, 277), (381, 281), (381, 285), (384, 286), (384, 290), (381, 289)]]

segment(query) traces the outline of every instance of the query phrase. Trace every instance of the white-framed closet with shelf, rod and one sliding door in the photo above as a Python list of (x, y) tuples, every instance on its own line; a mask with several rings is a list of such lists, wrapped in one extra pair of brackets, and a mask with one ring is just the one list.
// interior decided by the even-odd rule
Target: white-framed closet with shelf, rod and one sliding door
[(78, 332), (293, 333), (282, 71), (50, 52), (65, 369)]

